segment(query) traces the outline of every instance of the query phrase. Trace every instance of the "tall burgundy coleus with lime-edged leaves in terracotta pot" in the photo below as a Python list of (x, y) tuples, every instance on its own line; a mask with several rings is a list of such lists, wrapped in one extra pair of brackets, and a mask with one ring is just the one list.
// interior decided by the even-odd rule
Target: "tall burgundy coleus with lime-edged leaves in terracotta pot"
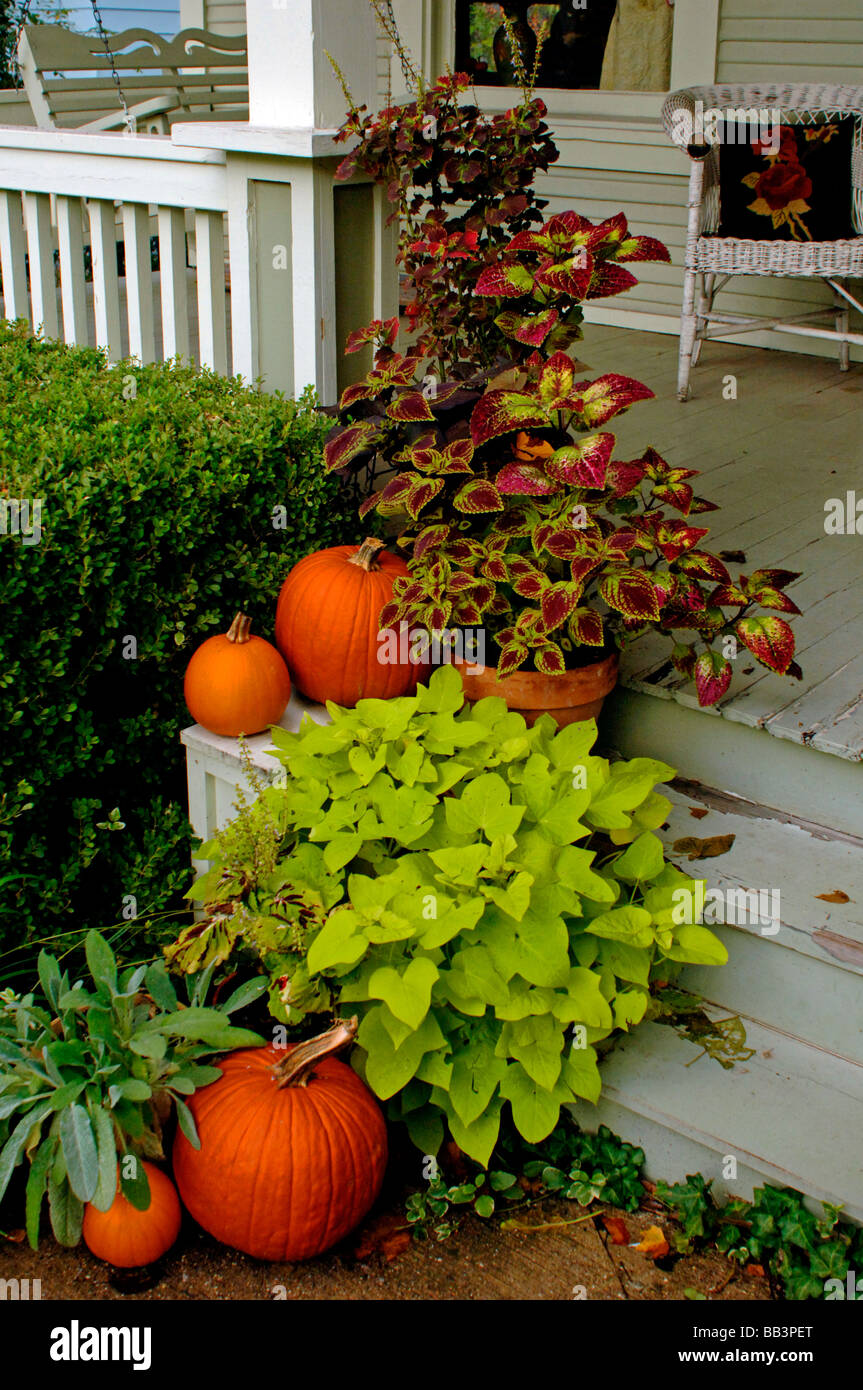
[[(396, 581), (381, 626), (482, 628), (502, 677), (525, 666), (559, 674), (655, 628), (700, 705), (728, 689), (739, 645), (770, 670), (799, 676), (792, 630), (778, 616), (799, 612), (784, 592), (798, 575), (732, 577), (700, 543), (707, 528), (695, 518), (716, 506), (695, 493), (698, 471), (652, 448), (614, 457), (606, 427), (653, 392), (617, 373), (591, 381), (567, 352), (581, 336), (582, 303), (630, 289), (628, 264), (667, 261), (667, 249), (631, 235), (623, 213), (599, 224), (577, 213), (542, 222), (531, 183), (550, 160), (536, 149), (521, 171), (527, 206), (506, 206), (499, 192), (495, 203), (495, 161), (504, 156), (498, 136), (488, 146), (481, 132), (498, 118), (470, 107), (457, 126), (466, 82), (427, 93), (446, 113), (443, 147), (463, 140), (456, 164), (434, 140), (416, 145), (422, 93), (377, 122), (352, 113), (345, 128), (360, 145), (343, 175), (361, 168), (386, 181), (406, 220), (400, 259), (421, 329), (406, 352), (396, 318), (350, 336), (349, 353), (374, 346), (374, 366), (343, 392), (325, 449), (329, 470), (371, 460), (372, 475), (391, 474), (360, 509), (402, 518), (410, 577)], [(525, 100), (507, 120), (529, 125), (541, 106)], [(488, 157), (466, 179), (474, 145)], [(459, 215), (447, 218), (450, 206)]]

